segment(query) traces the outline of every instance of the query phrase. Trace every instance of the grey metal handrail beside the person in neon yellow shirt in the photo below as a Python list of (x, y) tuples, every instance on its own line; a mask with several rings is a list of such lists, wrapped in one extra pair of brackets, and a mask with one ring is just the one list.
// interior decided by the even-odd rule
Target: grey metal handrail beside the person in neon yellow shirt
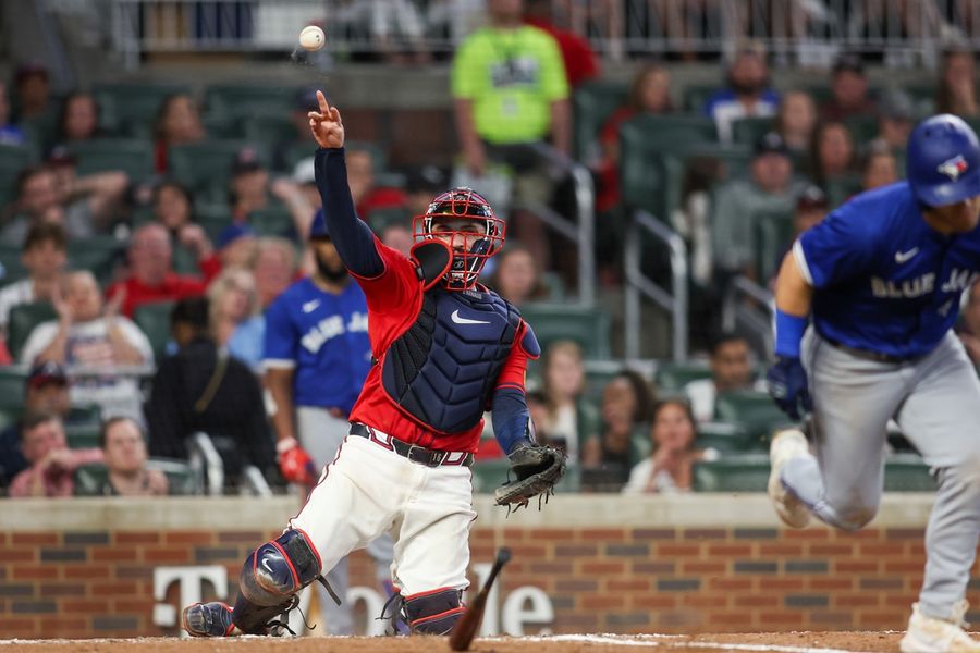
[(581, 163), (575, 161), (543, 143), (531, 144), (531, 149), (553, 169), (552, 178), (566, 174), (572, 178), (575, 194), (575, 218), (573, 222), (543, 205), (517, 202), (515, 208), (534, 214), (563, 238), (575, 244), (578, 250), (578, 301), (584, 306), (596, 304), (596, 190), (592, 175)]

